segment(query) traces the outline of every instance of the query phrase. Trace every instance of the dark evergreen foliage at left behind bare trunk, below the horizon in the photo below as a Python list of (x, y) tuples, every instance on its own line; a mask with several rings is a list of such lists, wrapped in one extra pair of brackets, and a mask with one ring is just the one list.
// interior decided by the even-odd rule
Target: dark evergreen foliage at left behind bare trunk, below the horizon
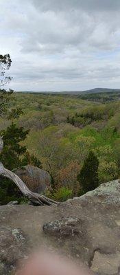
[[(27, 164), (41, 168), (40, 161), (34, 155), (29, 154), (26, 146), (21, 145), (21, 142), (25, 140), (28, 133), (29, 130), (17, 127), (13, 122), (6, 130), (0, 132), (4, 144), (0, 155), (0, 162), (3, 163), (5, 168), (14, 170), (14, 168)], [(20, 197), (21, 192), (15, 184), (10, 179), (0, 177), (0, 204), (8, 203), (10, 200)]]

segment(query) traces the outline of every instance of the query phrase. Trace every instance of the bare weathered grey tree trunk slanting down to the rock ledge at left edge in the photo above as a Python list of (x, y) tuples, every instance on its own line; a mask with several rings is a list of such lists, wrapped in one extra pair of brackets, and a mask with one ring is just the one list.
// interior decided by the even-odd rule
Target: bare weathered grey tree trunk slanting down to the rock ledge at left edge
[(29, 199), (29, 201), (32, 201), (33, 204), (38, 206), (43, 206), (47, 204), (47, 206), (51, 206), (53, 204), (57, 204), (57, 201), (54, 201), (53, 199), (49, 199), (48, 197), (45, 197), (44, 195), (40, 195), (38, 193), (32, 192), (27, 188), (25, 183), (12, 171), (6, 169), (3, 164), (0, 162), (0, 175), (3, 177), (8, 177), (8, 179), (11, 179), (14, 184), (21, 190), (23, 195)]

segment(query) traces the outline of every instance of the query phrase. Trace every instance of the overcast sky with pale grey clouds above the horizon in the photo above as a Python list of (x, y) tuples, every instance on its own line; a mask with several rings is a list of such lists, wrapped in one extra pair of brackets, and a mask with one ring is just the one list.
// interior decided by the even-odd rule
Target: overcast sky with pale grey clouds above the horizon
[[(120, 88), (120, 0), (0, 0), (15, 91)], [(7, 72), (8, 74), (8, 72)]]

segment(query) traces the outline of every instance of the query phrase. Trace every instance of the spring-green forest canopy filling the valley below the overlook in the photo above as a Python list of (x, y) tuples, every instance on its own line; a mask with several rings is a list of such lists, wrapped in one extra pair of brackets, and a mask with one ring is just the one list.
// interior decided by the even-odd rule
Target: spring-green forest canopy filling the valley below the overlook
[[(98, 163), (97, 186), (119, 178), (118, 100), (90, 102), (62, 94), (14, 93), (14, 97), (11, 107), (15, 105), (16, 109), (21, 108), (22, 113), (17, 115), (14, 121), (1, 118), (1, 134), (6, 135), (8, 129), (10, 135), (11, 123), (12, 128), (14, 124), (17, 129), (23, 127), (23, 138), (18, 141), (24, 148), (21, 154), (23, 164), (40, 166), (47, 170), (52, 178), (51, 188), (45, 195), (57, 201), (82, 195), (85, 190), (80, 182), (80, 172), (91, 152)], [(34, 157), (34, 162), (29, 155)], [(90, 170), (94, 170), (93, 159), (89, 162)], [(16, 168), (23, 164), (18, 163)], [(86, 168), (84, 173), (89, 173)], [(88, 180), (87, 177), (84, 178), (84, 183)], [(90, 182), (92, 181), (93, 178)], [(94, 184), (87, 190), (92, 188)], [(13, 197), (15, 199), (15, 195)]]

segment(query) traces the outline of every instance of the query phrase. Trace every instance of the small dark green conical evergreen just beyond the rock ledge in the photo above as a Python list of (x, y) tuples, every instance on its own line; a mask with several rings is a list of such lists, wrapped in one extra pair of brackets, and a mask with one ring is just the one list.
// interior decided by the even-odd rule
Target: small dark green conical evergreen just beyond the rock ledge
[(84, 192), (94, 190), (99, 185), (98, 166), (99, 160), (93, 151), (90, 151), (78, 175), (80, 186)]

